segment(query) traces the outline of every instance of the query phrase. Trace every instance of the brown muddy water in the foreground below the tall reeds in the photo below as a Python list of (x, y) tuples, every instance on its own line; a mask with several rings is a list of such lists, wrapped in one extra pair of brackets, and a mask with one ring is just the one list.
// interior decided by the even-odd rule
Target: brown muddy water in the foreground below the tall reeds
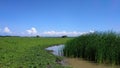
[(120, 68), (120, 66), (96, 64), (78, 58), (66, 58), (66, 60), (72, 68)]

